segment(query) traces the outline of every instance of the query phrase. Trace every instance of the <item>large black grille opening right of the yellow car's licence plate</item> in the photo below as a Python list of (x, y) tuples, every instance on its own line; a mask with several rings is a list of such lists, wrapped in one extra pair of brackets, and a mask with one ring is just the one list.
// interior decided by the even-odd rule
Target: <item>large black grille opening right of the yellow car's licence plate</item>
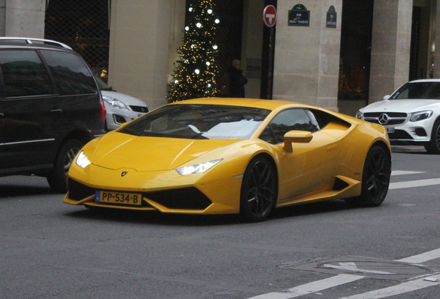
[(148, 192), (145, 193), (145, 197), (166, 208), (178, 210), (205, 210), (212, 203), (205, 194), (194, 187)]

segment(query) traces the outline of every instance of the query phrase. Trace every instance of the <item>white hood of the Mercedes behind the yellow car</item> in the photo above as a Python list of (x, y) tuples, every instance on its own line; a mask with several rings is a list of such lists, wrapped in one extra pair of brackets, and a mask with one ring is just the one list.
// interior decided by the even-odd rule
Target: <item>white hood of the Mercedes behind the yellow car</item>
[(440, 100), (383, 100), (360, 109), (366, 112), (405, 112), (423, 111), (438, 107)]

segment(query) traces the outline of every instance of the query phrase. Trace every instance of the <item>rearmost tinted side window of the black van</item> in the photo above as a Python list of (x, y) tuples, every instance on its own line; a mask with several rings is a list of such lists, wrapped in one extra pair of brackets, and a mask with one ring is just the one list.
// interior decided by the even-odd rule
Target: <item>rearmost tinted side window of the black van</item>
[(80, 57), (73, 53), (42, 50), (51, 69), (58, 92), (62, 96), (96, 93), (95, 80)]

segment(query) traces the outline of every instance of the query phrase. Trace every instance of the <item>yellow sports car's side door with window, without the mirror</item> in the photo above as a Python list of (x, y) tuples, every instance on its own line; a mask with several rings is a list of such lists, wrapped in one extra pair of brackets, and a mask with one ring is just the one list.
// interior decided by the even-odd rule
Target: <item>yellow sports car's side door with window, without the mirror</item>
[[(307, 109), (286, 109), (268, 125), (275, 138), (279, 159), (279, 201), (282, 205), (294, 197), (324, 190), (336, 169), (336, 138), (320, 132), (318, 122)], [(308, 131), (309, 142), (293, 143), (292, 152), (284, 149), (284, 134)]]

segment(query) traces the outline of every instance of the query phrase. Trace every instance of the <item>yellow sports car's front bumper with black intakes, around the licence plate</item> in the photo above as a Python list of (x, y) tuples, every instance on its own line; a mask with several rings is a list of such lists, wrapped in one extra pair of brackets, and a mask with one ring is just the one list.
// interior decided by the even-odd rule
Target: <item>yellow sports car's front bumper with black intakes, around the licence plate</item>
[[(220, 165), (217, 165), (220, 166)], [(127, 172), (121, 176), (122, 172)], [(185, 214), (235, 214), (239, 212), (242, 175), (207, 172), (181, 176), (175, 170), (137, 172), (109, 170), (89, 165), (71, 167), (64, 203), (127, 210), (158, 210)], [(228, 188), (225, 188), (228, 186)], [(136, 192), (142, 203), (133, 206), (96, 201), (95, 192)]]

